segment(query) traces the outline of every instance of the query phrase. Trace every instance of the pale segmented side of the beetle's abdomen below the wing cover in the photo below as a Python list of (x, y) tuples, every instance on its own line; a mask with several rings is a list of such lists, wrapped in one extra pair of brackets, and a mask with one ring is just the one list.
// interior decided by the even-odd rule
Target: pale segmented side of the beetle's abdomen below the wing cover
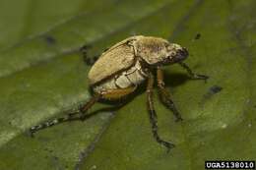
[(102, 92), (109, 89), (126, 88), (129, 86), (140, 85), (147, 78), (147, 74), (142, 70), (139, 61), (134, 66), (125, 70), (112, 78), (94, 86), (96, 92)]

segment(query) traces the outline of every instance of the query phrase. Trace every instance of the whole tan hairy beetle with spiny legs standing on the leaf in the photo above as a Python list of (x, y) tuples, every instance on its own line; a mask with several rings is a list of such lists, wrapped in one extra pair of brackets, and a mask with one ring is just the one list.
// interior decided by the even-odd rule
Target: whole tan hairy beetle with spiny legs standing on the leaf
[(194, 74), (182, 62), (187, 57), (188, 50), (185, 47), (170, 43), (166, 39), (144, 35), (128, 37), (104, 51), (96, 60), (88, 75), (89, 83), (95, 95), (79, 109), (79, 112), (70, 113), (65, 117), (34, 126), (30, 131), (34, 133), (40, 129), (74, 119), (83, 120), (87, 111), (99, 99), (120, 99), (133, 93), (138, 85), (147, 81), (147, 107), (153, 136), (157, 142), (170, 149), (174, 144), (162, 140), (158, 133), (157, 113), (153, 103), (155, 75), (157, 75), (161, 101), (173, 112), (176, 121), (182, 120), (169, 92), (165, 88), (163, 73), (160, 68), (178, 63), (187, 70), (191, 79), (207, 80), (207, 76)]

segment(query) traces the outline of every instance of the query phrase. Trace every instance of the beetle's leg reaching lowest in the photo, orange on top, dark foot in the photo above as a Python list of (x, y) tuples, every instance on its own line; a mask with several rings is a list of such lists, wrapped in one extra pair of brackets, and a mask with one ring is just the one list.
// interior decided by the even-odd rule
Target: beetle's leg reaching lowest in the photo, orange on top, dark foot
[(150, 73), (148, 85), (147, 85), (147, 106), (150, 114), (150, 121), (152, 124), (152, 132), (156, 141), (164, 145), (167, 148), (167, 151), (169, 151), (170, 148), (174, 147), (174, 144), (171, 142), (165, 142), (160, 139), (160, 136), (158, 133), (158, 116), (155, 111), (154, 102), (153, 102), (153, 85), (154, 85), (154, 76), (152, 73)]

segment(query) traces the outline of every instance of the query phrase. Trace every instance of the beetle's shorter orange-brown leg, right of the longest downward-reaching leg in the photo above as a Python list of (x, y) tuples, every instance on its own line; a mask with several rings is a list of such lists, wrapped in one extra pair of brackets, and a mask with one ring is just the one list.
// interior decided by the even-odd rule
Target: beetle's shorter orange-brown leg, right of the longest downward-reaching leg
[(160, 68), (158, 68), (158, 71), (157, 71), (157, 78), (158, 78), (158, 86), (160, 88), (161, 101), (172, 111), (173, 115), (176, 117), (176, 121), (181, 121), (182, 120), (181, 115), (177, 110), (174, 102), (172, 101), (170, 93), (165, 88), (165, 85), (163, 82), (163, 73), (160, 70)]

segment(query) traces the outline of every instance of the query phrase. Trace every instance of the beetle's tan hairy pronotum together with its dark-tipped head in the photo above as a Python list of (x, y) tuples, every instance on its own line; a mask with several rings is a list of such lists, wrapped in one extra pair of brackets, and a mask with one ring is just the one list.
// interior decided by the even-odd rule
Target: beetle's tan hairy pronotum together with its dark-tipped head
[(153, 36), (141, 37), (136, 43), (136, 49), (137, 55), (152, 66), (177, 63), (188, 56), (186, 48)]

